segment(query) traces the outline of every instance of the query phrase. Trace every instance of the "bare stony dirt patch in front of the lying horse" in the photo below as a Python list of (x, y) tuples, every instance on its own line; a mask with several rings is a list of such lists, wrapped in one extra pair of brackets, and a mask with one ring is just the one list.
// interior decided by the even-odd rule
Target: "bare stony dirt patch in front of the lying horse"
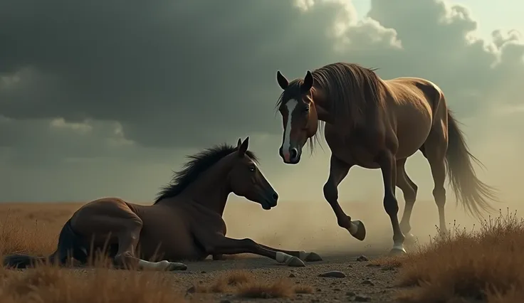
[[(361, 297), (361, 302), (394, 302), (394, 294), (397, 292), (397, 287), (394, 287), (397, 269), (372, 265), (366, 261), (359, 262), (357, 257), (359, 256), (324, 256), (321, 262), (308, 263), (306, 267), (298, 268), (278, 265), (272, 260), (258, 257), (195, 262), (188, 263), (187, 273), (175, 275), (179, 277), (178, 283), (184, 287), (191, 287), (195, 280), (210, 282), (226, 270), (242, 269), (253, 272), (261, 280), (289, 278), (295, 284), (313, 287), (312, 294), (297, 294), (293, 299), (270, 299), (272, 302), (352, 302), (357, 296)], [(320, 274), (330, 271), (343, 272), (345, 277), (319, 277)], [(257, 301), (235, 298), (231, 294), (221, 294), (216, 296), (216, 299), (228, 299), (231, 302)]]

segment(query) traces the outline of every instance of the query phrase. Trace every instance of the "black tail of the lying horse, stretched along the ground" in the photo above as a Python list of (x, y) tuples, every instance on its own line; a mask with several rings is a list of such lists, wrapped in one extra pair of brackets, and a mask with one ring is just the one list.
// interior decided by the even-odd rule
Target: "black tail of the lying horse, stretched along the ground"
[(63, 225), (58, 236), (58, 248), (48, 257), (36, 257), (31, 255), (6, 255), (4, 267), (27, 268), (34, 267), (38, 263), (65, 265), (67, 260), (73, 257), (80, 262), (87, 262), (88, 252), (83, 247), (82, 239), (73, 231), (70, 220)]

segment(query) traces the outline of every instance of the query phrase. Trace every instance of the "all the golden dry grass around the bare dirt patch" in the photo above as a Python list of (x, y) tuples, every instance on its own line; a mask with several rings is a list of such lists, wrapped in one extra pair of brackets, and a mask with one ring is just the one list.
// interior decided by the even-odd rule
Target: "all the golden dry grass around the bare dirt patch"
[[(77, 203), (0, 204), (0, 254), (47, 255)], [(454, 226), (444, 237), (408, 255), (373, 262), (399, 267), (399, 302), (524, 302), (524, 220), (501, 213), (480, 227)], [(287, 279), (264, 282), (234, 270), (211, 282), (177, 289), (158, 272), (61, 270), (41, 266), (20, 272), (0, 268), (1, 302), (188, 302), (194, 296), (228, 292), (246, 298), (291, 298), (311, 293)]]

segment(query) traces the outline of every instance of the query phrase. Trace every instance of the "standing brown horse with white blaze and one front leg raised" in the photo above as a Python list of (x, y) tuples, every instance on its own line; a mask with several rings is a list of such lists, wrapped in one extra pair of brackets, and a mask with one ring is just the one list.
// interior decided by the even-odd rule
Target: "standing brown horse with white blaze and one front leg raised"
[[(421, 78), (382, 80), (374, 70), (352, 63), (332, 63), (313, 73), (308, 70), (304, 79), (290, 83), (278, 71), (277, 82), (283, 89), (277, 102), (283, 118), (279, 151), (283, 161), (298, 164), (305, 142), (317, 133), (318, 121), (325, 122), (331, 159), (324, 196), (338, 225), (358, 240), (364, 240), (365, 227), (340, 208), (338, 185), (352, 166), (382, 170), (384, 208), (393, 228), (391, 253), (403, 253), (417, 191), (404, 164), (417, 150), (431, 166), (442, 232), (446, 232), (446, 168), (458, 201), (470, 213), (481, 218), (481, 210), (493, 210), (488, 199), (495, 200), (496, 190), (477, 179), (471, 159), (480, 162), (468, 151), (458, 122), (434, 83)], [(400, 223), (395, 186), (406, 201)]]

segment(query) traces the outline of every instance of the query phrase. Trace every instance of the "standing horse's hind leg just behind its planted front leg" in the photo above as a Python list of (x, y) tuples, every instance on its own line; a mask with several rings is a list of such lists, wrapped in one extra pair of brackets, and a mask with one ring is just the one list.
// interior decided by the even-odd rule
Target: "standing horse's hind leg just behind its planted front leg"
[(404, 206), (404, 213), (402, 214), (402, 220), (400, 221), (400, 229), (406, 240), (414, 240), (414, 236), (409, 233), (412, 229), (409, 221), (412, 217), (413, 206), (416, 201), (416, 192), (418, 191), (418, 186), (414, 184), (412, 179), (409, 179), (409, 176), (406, 173), (405, 164), (407, 158), (397, 160), (397, 187), (402, 190), (404, 193), (404, 201), (406, 205)]

